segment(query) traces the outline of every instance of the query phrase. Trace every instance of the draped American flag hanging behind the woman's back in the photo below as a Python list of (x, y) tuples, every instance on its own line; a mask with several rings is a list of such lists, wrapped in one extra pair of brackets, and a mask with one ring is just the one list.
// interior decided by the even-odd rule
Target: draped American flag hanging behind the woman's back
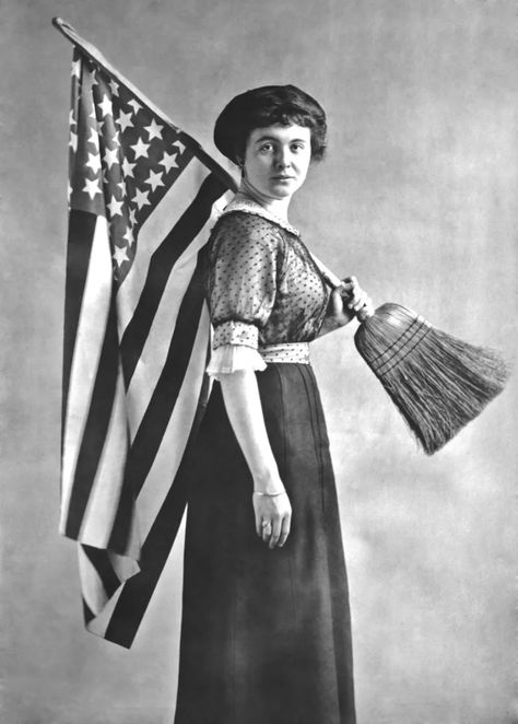
[(129, 647), (186, 505), (208, 396), (199, 252), (233, 180), (89, 48), (72, 62), (60, 532), (87, 629)]

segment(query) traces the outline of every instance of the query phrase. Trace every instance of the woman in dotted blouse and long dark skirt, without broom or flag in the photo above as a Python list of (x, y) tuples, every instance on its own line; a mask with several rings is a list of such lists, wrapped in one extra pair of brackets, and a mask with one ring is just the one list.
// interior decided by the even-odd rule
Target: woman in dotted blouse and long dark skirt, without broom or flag
[(293, 85), (248, 91), (214, 140), (243, 180), (207, 253), (215, 382), (187, 516), (175, 724), (351, 724), (348, 582), (308, 342), (369, 301), (354, 278), (330, 292), (287, 220), (323, 154), (319, 104)]

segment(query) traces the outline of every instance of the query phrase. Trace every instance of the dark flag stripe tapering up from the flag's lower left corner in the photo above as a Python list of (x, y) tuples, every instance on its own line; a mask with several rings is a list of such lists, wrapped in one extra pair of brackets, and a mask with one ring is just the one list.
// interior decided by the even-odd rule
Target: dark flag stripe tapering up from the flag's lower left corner
[(66, 535), (78, 538), (108, 431), (118, 372), (117, 319), (111, 295), (106, 332), (95, 377), (89, 416), (75, 466)]

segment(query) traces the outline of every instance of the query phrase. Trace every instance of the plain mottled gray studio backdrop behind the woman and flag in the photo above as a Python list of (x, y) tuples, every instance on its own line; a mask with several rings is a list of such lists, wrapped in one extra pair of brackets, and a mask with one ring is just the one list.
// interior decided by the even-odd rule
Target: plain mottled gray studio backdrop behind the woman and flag
[[(82, 629), (57, 534), (72, 46), (61, 15), (226, 167), (236, 93), (295, 83), (327, 160), (291, 220), (378, 303), (516, 351), (517, 10), (507, 0), (3, 0), (0, 377), (5, 724), (166, 724), (181, 541), (130, 652)], [(316, 342), (349, 563), (360, 724), (510, 724), (516, 383), (420, 453), (357, 355)], [(272, 723), (273, 724), (273, 723)], [(326, 724), (308, 723), (308, 724)]]

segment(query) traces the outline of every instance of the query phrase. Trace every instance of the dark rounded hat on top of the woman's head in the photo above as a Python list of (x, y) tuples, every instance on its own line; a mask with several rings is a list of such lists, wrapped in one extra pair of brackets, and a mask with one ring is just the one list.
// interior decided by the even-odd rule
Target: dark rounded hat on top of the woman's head
[[(214, 126), (214, 143), (227, 159), (237, 163), (236, 152), (244, 145), (254, 128), (269, 126), (272, 117), (293, 113), (318, 115), (321, 106), (295, 85), (262, 85), (236, 95), (223, 108)], [(279, 121), (276, 121), (279, 122)]]

